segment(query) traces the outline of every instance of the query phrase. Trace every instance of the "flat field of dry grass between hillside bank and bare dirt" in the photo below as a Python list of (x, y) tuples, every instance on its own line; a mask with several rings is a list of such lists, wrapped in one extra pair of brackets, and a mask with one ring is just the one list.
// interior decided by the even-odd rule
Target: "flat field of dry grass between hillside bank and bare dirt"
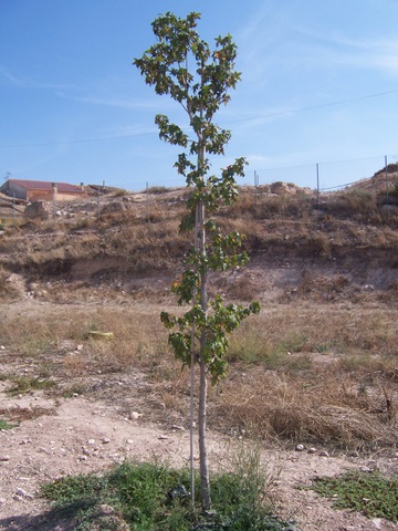
[[(11, 304), (0, 321), (8, 372), (27, 366), (31, 377), (54, 378), (49, 393), (78, 389), (98, 399), (91, 376), (105, 378), (101, 389), (109, 385), (106, 375), (140, 375), (147, 384), (136, 400), (148, 418), (186, 419), (188, 374), (172, 358), (159, 311), (148, 303), (31, 304), (21, 319), (22, 306)], [(91, 339), (91, 330), (112, 331), (114, 340)], [(397, 340), (396, 313), (387, 306), (272, 305), (232, 336), (230, 374), (210, 392), (210, 426), (329, 447), (394, 445)], [(132, 393), (129, 385), (112, 392), (121, 412)]]

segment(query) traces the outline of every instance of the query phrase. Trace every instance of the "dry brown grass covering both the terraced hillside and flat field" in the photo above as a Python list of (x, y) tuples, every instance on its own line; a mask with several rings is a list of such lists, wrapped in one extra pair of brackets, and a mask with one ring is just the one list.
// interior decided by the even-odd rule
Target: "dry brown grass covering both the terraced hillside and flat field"
[[(258, 197), (242, 190), (219, 222), (247, 235), (247, 250), (263, 268), (263, 257), (276, 269), (296, 260), (302, 274), (279, 298), (264, 298), (262, 314), (231, 337), (231, 372), (210, 393), (210, 424), (339, 447), (396, 444), (397, 283), (370, 296), (350, 280), (360, 261), (391, 260), (395, 221), (379, 218), (377, 198), (366, 190), (322, 198), (323, 212), (314, 216), (310, 194), (275, 189)], [(150, 419), (187, 418), (188, 375), (174, 361), (159, 313), (171, 304), (167, 288), (189, 237), (178, 230), (184, 201), (163, 196), (100, 223), (82, 212), (70, 223), (31, 222), (2, 236), (0, 292), (11, 301), (0, 320), (4, 377), (24, 367), (31, 377), (54, 378), (51, 393), (106, 396), (121, 412), (134, 394)], [(327, 271), (335, 257), (352, 259), (346, 272)], [(38, 280), (41, 304), (19, 302), (23, 290), (7, 282), (10, 272), (27, 285)], [(266, 292), (264, 278), (255, 269), (234, 272), (211, 290), (251, 301)], [(111, 331), (114, 340), (93, 340), (92, 330)], [(134, 377), (143, 385), (134, 387)]]

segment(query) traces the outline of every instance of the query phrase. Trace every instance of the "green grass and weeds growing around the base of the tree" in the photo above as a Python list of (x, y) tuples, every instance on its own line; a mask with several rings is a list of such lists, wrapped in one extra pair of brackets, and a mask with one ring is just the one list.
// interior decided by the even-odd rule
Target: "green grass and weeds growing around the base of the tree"
[[(103, 476), (66, 477), (43, 485), (41, 494), (53, 501), (60, 517), (71, 519), (75, 530), (285, 530), (286, 523), (271, 517), (264, 503), (266, 480), (260, 461), (252, 456), (249, 464), (244, 475), (237, 470), (212, 478), (217, 512), (211, 517), (200, 514), (198, 504), (191, 508), (188, 469), (156, 462), (126, 461)], [(112, 508), (111, 516), (104, 514), (104, 504)]]

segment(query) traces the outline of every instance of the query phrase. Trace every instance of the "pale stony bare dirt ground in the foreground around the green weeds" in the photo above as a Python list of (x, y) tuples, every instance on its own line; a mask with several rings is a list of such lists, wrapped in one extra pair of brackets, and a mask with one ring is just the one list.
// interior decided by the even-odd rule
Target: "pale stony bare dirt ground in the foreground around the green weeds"
[[(1, 383), (1, 408), (45, 409), (48, 414), (0, 431), (0, 530), (72, 529), (69, 522), (54, 521), (49, 503), (39, 497), (43, 481), (101, 471), (125, 458), (156, 456), (176, 466), (189, 460), (189, 434), (179, 426), (148, 424), (139, 416), (126, 418), (116, 405), (81, 396), (49, 398), (35, 392), (10, 398), (4, 387)], [(228, 439), (219, 434), (209, 436), (210, 462), (220, 462), (229, 451)], [(312, 490), (297, 490), (297, 486), (310, 485), (316, 476), (348, 469), (395, 470), (397, 455), (381, 459), (321, 454), (263, 447), (264, 467), (275, 477), (273, 496), (283, 517), (294, 520), (298, 531), (398, 530), (388, 521), (335, 510), (329, 500)]]

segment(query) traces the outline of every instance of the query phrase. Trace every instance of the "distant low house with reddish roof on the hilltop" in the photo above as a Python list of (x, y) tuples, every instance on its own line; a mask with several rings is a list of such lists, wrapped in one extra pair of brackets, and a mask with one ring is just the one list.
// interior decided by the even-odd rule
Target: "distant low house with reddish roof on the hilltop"
[(25, 201), (72, 201), (74, 199), (88, 198), (88, 194), (84, 190), (83, 185), (75, 186), (45, 180), (8, 179), (0, 186), (0, 191)]

